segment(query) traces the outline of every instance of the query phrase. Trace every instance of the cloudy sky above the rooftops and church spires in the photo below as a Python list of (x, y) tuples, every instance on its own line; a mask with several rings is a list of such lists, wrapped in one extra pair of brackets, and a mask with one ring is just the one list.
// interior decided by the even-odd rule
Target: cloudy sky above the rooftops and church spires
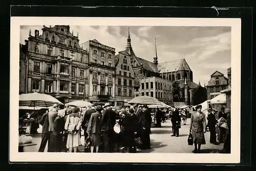
[[(49, 27), (49, 26), (47, 26)], [(53, 27), (53, 26), (52, 26)], [(97, 39), (100, 43), (116, 48), (116, 54), (125, 50), (127, 28), (130, 27), (131, 43), (136, 56), (153, 61), (154, 43), (157, 41), (158, 61), (185, 58), (193, 70), (194, 82), (207, 85), (216, 70), (227, 76), (231, 65), (230, 27), (138, 27), (138, 26), (70, 26), (80, 43)], [(24, 44), (29, 30), (42, 26), (21, 26), (20, 43)]]

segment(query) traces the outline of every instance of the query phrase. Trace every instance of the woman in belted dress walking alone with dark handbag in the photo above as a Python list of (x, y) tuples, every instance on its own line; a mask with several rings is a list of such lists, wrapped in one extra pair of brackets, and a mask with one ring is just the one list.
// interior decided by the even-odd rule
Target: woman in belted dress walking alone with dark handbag
[(202, 105), (196, 107), (196, 111), (191, 114), (189, 133), (192, 134), (195, 144), (194, 153), (200, 153), (201, 144), (205, 144), (204, 133), (206, 132), (205, 114), (201, 112)]

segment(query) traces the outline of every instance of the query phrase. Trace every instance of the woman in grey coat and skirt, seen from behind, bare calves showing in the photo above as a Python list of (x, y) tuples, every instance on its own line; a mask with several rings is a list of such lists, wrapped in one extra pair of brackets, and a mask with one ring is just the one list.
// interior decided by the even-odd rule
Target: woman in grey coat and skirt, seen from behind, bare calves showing
[(89, 124), (87, 127), (87, 133), (91, 138), (91, 153), (93, 153), (94, 147), (96, 148), (96, 153), (99, 151), (100, 145), (100, 119), (101, 119), (101, 108), (96, 106), (96, 112), (91, 114)]

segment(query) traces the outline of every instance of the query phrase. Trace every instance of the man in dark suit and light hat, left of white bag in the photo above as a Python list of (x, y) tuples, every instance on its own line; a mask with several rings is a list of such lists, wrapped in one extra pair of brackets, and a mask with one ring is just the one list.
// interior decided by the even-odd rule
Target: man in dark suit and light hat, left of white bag
[(104, 153), (114, 152), (114, 125), (116, 123), (116, 113), (111, 109), (110, 103), (105, 103), (103, 106), (105, 110), (103, 111), (101, 117), (101, 132), (104, 141)]

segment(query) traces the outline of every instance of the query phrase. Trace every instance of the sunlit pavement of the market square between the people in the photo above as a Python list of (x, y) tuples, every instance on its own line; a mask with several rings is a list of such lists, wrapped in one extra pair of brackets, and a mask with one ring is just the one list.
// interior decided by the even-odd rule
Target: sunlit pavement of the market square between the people
[[(192, 153), (194, 146), (187, 144), (187, 137), (189, 133), (189, 119), (187, 125), (181, 125), (180, 136), (171, 137), (172, 124), (170, 120), (162, 123), (162, 128), (152, 128), (151, 149), (138, 150), (137, 153)], [(205, 133), (206, 144), (201, 146), (201, 153), (218, 153), (223, 148), (223, 143), (214, 145), (209, 143), (210, 133)], [(33, 142), (37, 145), (24, 147), (24, 152), (37, 152), (41, 141), (41, 135), (37, 134), (33, 137)], [(79, 146), (78, 150), (83, 152), (83, 145)], [(47, 146), (45, 149), (47, 152)]]

